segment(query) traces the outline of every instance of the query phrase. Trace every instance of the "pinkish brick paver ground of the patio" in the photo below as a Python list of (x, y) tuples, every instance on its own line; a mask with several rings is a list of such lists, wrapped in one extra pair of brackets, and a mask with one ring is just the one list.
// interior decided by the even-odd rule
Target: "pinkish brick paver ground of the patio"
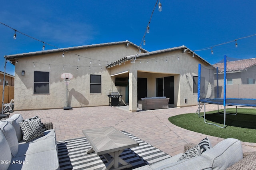
[[(207, 111), (215, 110), (212, 105)], [(57, 140), (83, 137), (83, 129), (113, 126), (126, 130), (134, 136), (174, 156), (183, 152), (184, 144), (198, 143), (207, 135), (177, 127), (168, 121), (168, 117), (183, 113), (195, 113), (197, 106), (158, 109), (150, 111), (128, 111), (124, 107), (83, 107), (72, 110), (49, 109), (36, 111), (15, 111), (10, 116), (20, 113), (24, 119), (38, 116), (42, 122), (52, 122)], [(212, 146), (223, 140), (208, 136)], [(242, 142), (243, 152), (256, 151), (256, 143)]]

